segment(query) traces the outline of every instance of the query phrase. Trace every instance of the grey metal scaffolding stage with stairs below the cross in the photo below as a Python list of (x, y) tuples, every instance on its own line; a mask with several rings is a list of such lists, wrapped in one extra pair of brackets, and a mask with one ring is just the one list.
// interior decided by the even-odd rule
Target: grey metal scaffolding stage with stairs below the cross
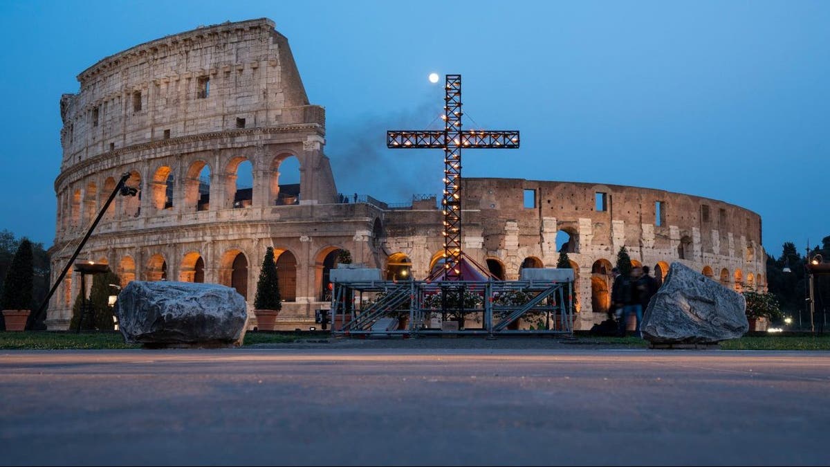
[(341, 336), (571, 335), (573, 294), (573, 281), (334, 282), (330, 320)]

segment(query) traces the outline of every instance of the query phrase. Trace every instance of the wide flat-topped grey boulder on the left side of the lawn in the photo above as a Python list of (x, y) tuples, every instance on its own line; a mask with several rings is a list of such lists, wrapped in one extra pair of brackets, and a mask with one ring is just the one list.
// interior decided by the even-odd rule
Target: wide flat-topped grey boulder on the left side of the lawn
[(217, 284), (133, 281), (115, 316), (126, 342), (145, 347), (227, 347), (245, 335), (245, 299)]

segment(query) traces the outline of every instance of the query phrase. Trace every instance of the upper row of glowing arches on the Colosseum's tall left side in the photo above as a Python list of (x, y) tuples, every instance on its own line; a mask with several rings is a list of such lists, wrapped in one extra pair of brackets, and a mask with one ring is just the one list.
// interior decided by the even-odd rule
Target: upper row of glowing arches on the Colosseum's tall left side
[[(250, 207), (257, 185), (266, 193), (266, 205), (300, 203), (300, 160), (295, 155), (278, 155), (266, 173), (255, 177), (251, 160), (237, 156), (228, 160), (219, 177), (212, 174), (207, 160), (193, 160), (183, 174), (176, 175), (170, 165), (159, 165), (147, 177), (138, 170), (130, 170), (126, 185), (136, 189), (135, 196), (117, 197), (110, 204), (104, 219), (129, 219), (141, 215), (142, 199), (149, 196), (149, 208), (154, 213), (183, 213), (211, 209), (211, 196), (220, 198), (218, 208), (242, 209)], [(146, 179), (146, 180), (145, 180)], [(220, 181), (223, 189), (211, 189), (212, 181)], [(261, 180), (261, 181), (260, 181)], [(98, 209), (115, 189), (115, 176), (107, 177), (102, 187), (90, 180), (62, 194), (59, 203), (61, 227), (79, 227), (89, 224)], [(116, 208), (116, 204), (120, 207)], [(181, 206), (178, 206), (181, 204)]]

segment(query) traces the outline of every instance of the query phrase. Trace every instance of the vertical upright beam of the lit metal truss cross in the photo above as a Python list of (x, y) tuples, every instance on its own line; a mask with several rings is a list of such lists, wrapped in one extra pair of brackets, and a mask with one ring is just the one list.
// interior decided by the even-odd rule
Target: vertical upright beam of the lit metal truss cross
[(444, 97), (444, 268), (461, 276), (461, 75), (447, 75)]

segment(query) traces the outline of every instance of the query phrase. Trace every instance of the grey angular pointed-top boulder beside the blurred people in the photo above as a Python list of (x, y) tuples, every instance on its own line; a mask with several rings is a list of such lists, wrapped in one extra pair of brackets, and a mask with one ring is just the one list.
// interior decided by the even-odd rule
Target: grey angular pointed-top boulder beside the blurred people
[(642, 318), (642, 337), (655, 344), (702, 344), (743, 336), (746, 300), (681, 263), (671, 263)]

